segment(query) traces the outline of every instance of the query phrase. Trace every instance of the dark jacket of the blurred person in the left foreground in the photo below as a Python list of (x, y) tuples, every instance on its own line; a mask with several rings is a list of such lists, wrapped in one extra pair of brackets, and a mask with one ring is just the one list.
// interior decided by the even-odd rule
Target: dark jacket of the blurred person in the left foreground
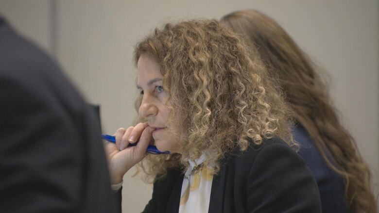
[(58, 66), (0, 17), (0, 212), (120, 212), (100, 133)]

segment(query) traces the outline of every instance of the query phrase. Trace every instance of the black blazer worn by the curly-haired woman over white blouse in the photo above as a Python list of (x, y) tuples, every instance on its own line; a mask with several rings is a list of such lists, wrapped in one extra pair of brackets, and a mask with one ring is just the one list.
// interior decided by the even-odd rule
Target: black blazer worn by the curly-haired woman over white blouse
[[(316, 181), (304, 161), (280, 139), (236, 150), (213, 177), (209, 213), (320, 213)], [(170, 169), (154, 183), (144, 213), (179, 210), (183, 173)]]

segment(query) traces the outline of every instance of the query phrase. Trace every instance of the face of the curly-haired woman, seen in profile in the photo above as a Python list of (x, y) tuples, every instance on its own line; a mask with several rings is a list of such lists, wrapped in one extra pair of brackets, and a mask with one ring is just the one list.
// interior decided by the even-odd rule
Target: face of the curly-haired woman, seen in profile
[(150, 127), (155, 128), (153, 138), (159, 151), (180, 152), (179, 136), (167, 126), (170, 109), (167, 106), (168, 94), (163, 88), (163, 75), (159, 64), (147, 55), (138, 59), (137, 87), (142, 96), (138, 114), (147, 119)]

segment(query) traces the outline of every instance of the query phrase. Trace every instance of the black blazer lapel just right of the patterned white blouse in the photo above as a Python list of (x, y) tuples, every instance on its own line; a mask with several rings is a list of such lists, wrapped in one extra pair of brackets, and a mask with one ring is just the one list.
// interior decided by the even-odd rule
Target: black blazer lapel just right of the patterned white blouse
[(223, 212), (226, 172), (227, 172), (227, 166), (226, 164), (224, 164), (220, 168), (219, 174), (213, 177), (212, 189), (210, 190), (208, 213), (222, 213)]

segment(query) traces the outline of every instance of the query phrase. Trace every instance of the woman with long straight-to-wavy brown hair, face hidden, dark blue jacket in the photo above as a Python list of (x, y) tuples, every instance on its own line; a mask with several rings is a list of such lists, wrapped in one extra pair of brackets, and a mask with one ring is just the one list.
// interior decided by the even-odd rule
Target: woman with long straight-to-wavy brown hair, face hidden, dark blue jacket
[(340, 123), (327, 90), (307, 55), (269, 16), (237, 11), (221, 23), (239, 33), (268, 66), (294, 110), (298, 152), (320, 189), (323, 212), (376, 212), (370, 171)]

